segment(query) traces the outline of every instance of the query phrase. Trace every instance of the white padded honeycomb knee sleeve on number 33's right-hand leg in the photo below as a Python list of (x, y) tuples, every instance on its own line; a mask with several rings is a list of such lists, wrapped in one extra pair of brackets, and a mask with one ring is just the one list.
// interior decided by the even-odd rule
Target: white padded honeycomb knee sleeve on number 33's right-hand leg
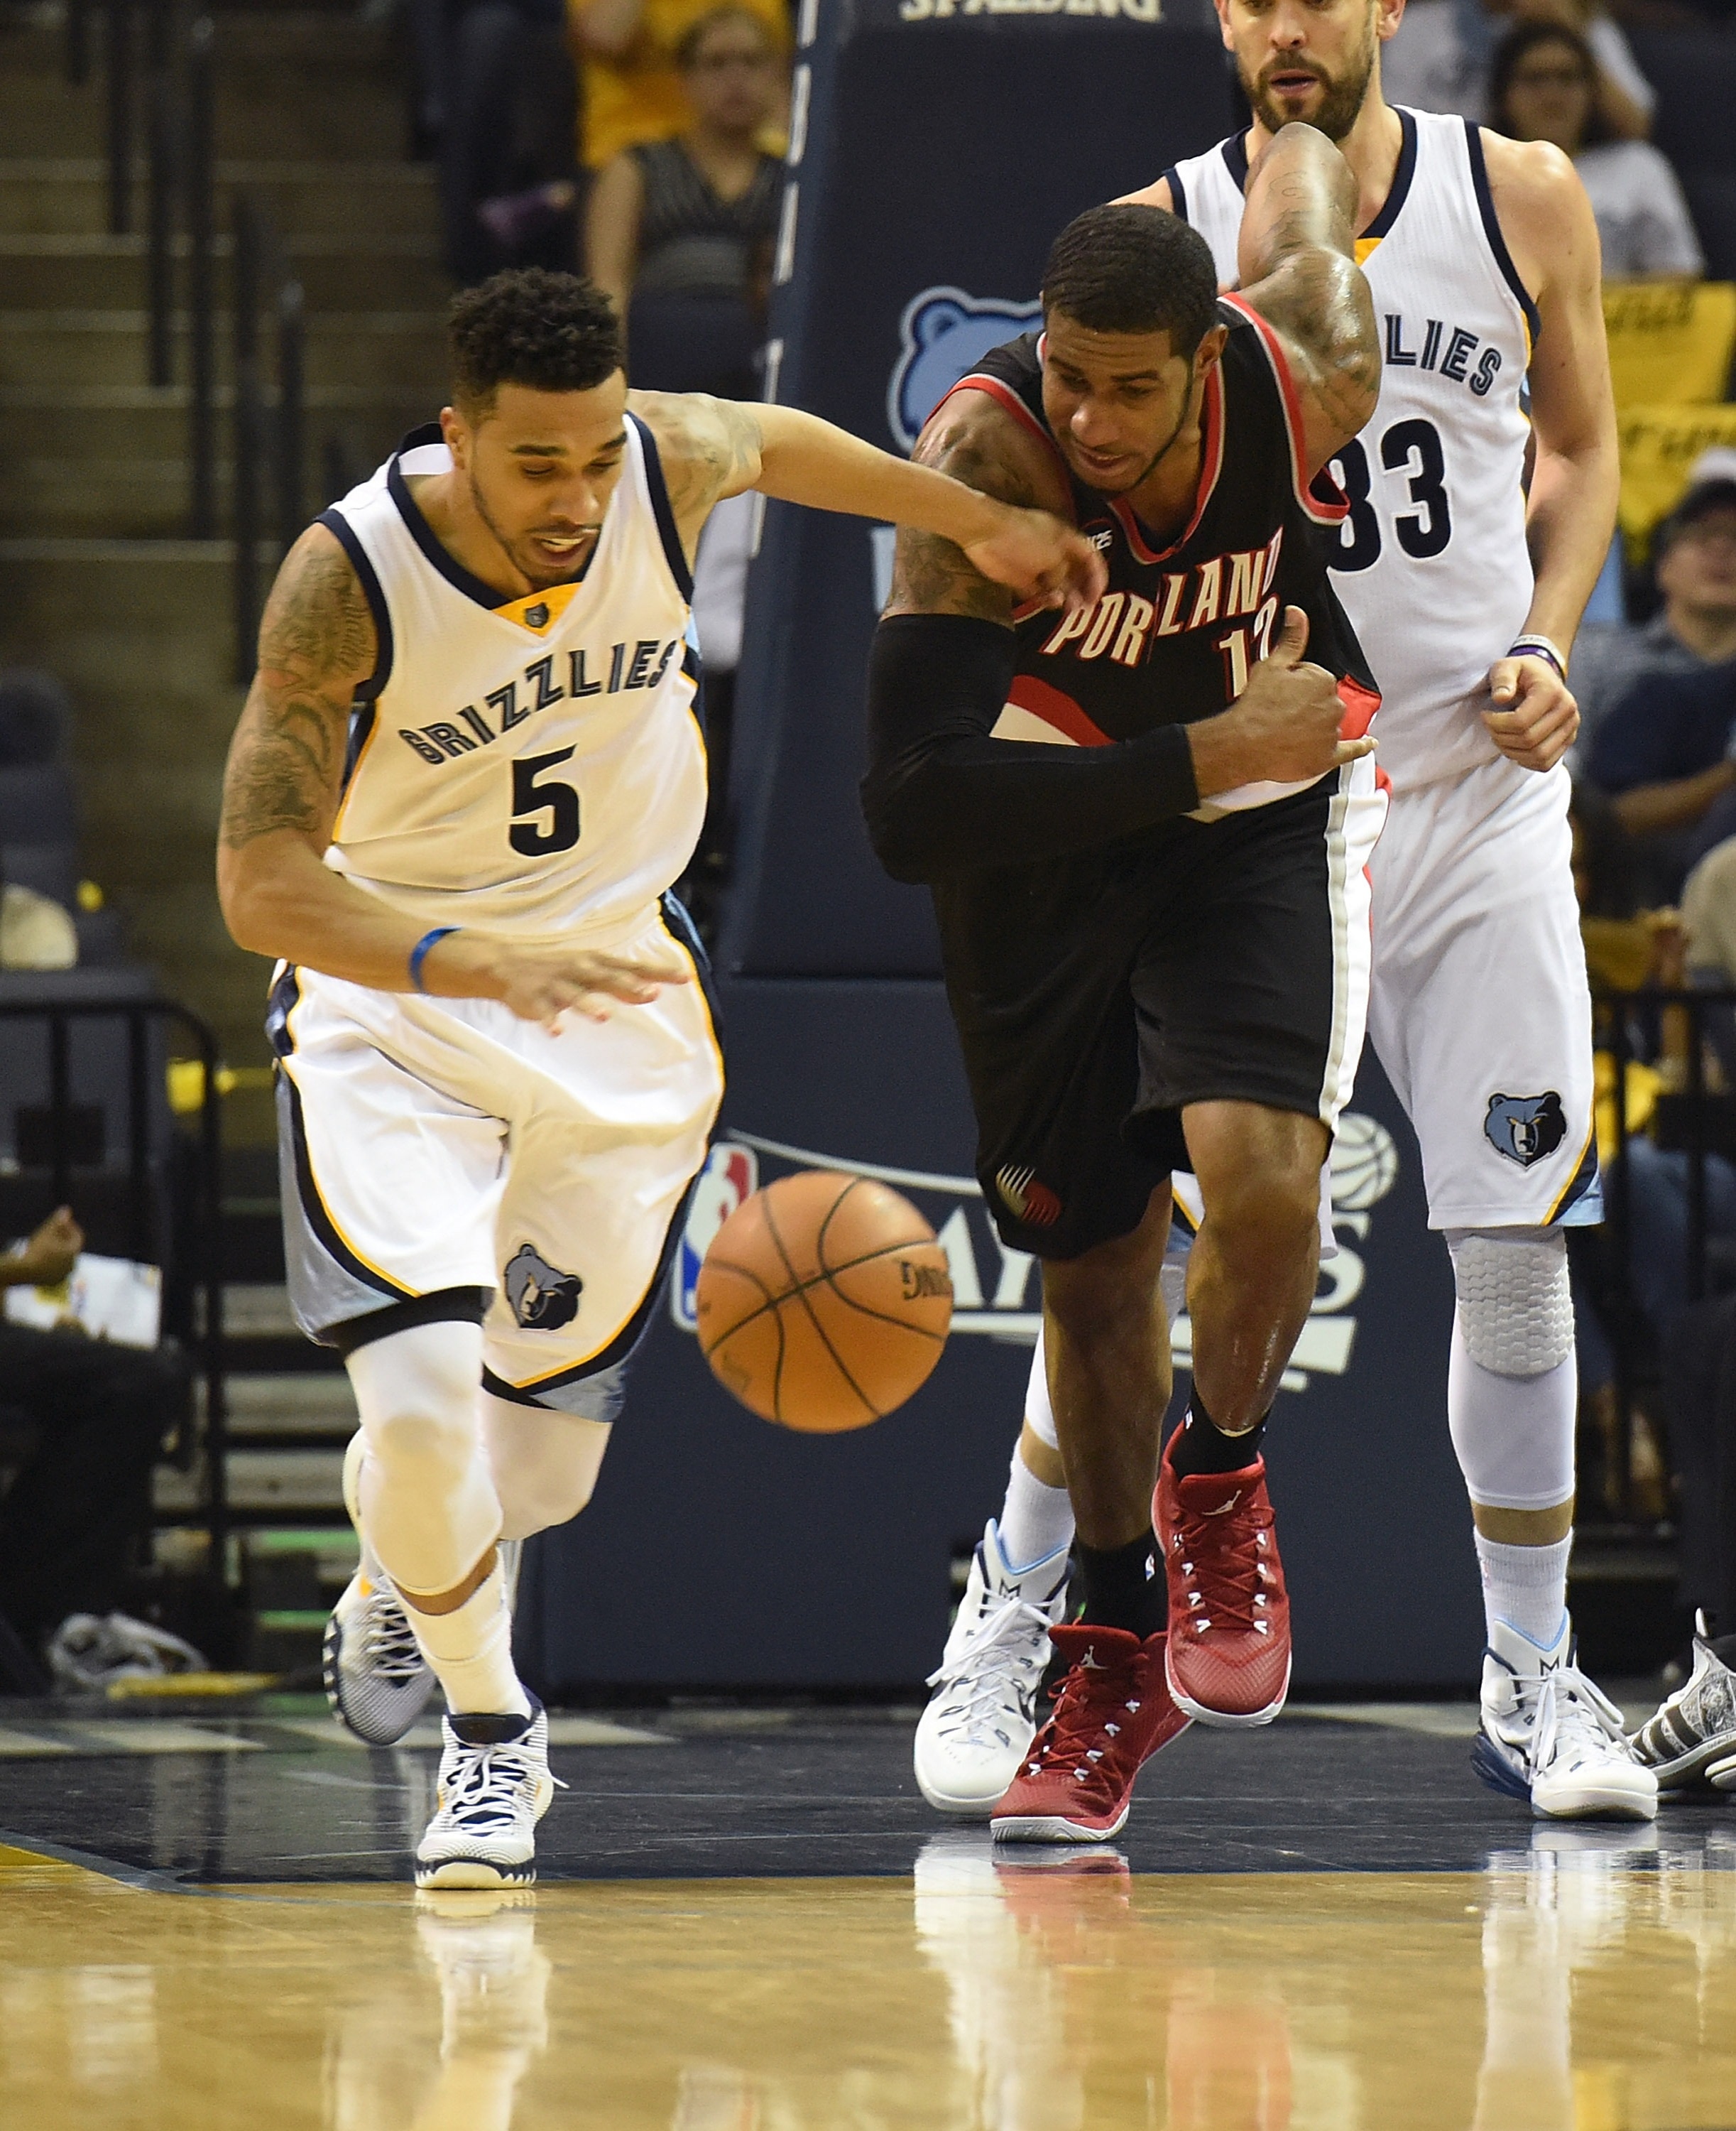
[(1459, 1306), (1446, 1377), (1453, 1449), (1474, 1502), (1553, 1509), (1574, 1492), (1574, 1311), (1566, 1238), (1448, 1232)]

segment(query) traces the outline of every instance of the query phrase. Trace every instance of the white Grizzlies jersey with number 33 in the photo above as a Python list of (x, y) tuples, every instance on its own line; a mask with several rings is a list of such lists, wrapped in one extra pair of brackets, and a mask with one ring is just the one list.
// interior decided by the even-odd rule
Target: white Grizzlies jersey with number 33
[[(1333, 460), (1350, 497), (1323, 533), (1333, 588), (1380, 682), (1395, 791), (1493, 761), (1489, 667), (1532, 605), (1521, 490), (1538, 313), (1489, 196), (1474, 124), (1399, 111), (1387, 205), (1357, 243), (1380, 320), (1380, 403)], [(1167, 170), (1176, 213), (1238, 279), (1244, 136)]]

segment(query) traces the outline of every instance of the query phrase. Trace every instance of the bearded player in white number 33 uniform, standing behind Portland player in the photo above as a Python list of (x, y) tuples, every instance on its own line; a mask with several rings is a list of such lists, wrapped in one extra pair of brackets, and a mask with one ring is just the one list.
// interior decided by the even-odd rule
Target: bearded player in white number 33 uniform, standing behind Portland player
[[(1602, 1219), (1561, 767), (1578, 729), (1566, 648), (1617, 497), (1598, 232), (1557, 149), (1385, 102), (1380, 43), (1404, 0), (1216, 6), (1255, 124), (1133, 198), (1189, 219), (1233, 286), (1248, 164), (1306, 119), (1359, 181), (1357, 258), (1382, 320), (1376, 416), (1333, 460), (1350, 516), (1329, 560), (1380, 684), (1391, 782), (1370, 1036), (1457, 1289), (1448, 1426), (1489, 1634), (1474, 1767), (1538, 1813), (1651, 1818), (1655, 1779), (1578, 1671), (1566, 1609), (1563, 1227)], [(1008, 1500), (918, 1730), (941, 1809), (986, 1811), (1029, 1743), (1071, 1541), (1063, 1481), (1039, 1345)]]

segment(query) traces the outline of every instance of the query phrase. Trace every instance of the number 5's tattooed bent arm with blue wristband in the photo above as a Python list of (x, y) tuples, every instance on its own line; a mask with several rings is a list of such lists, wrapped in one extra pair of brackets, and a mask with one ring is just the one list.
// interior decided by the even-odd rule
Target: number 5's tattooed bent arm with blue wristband
[[(375, 627), (349, 558), (326, 526), (283, 556), (260, 622), (260, 669), (230, 742), (217, 897), (230, 936), (373, 991), (411, 991), (409, 953), (428, 931), (326, 863), (343, 791), (349, 705), (373, 673)], [(503, 765), (505, 774), (505, 765)], [(594, 955), (466, 927), (422, 963), (430, 993), (501, 999), (526, 1021), (567, 1008), (605, 1019), (690, 972), (662, 959)]]

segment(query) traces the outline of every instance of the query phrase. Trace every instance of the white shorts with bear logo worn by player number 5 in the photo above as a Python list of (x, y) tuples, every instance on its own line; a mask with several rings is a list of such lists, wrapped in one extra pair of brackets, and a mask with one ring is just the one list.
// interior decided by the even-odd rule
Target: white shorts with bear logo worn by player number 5
[[(669, 936), (694, 955), (648, 933)], [(558, 1034), (494, 999), (285, 967), (271, 1031), (302, 1332), (347, 1349), (383, 1308), (415, 1323), (426, 1298), (447, 1317), (469, 1300), (488, 1389), (586, 1411), (650, 1317), (722, 1100), (699, 961), (650, 1006)]]

